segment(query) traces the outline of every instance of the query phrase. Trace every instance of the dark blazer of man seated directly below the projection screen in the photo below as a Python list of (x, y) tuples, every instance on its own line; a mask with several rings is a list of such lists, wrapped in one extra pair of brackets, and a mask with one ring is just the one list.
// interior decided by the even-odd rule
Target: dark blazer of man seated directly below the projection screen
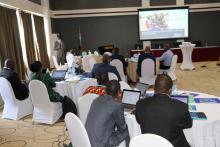
[(140, 77), (141, 77), (142, 61), (147, 58), (154, 60), (154, 65), (155, 65), (154, 69), (155, 69), (155, 74), (156, 74), (156, 59), (155, 59), (154, 55), (151, 54), (150, 52), (144, 52), (143, 54), (139, 55), (139, 57), (138, 57), (137, 73)]

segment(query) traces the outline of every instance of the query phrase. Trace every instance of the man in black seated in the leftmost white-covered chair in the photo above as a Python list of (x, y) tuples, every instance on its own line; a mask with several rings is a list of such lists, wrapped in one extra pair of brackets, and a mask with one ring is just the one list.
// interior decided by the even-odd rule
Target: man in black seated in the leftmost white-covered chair
[(0, 72), (0, 77), (7, 79), (12, 86), (15, 97), (18, 100), (24, 100), (29, 96), (27, 86), (21, 82), (18, 74), (14, 71), (15, 63), (12, 59), (6, 59), (3, 70)]

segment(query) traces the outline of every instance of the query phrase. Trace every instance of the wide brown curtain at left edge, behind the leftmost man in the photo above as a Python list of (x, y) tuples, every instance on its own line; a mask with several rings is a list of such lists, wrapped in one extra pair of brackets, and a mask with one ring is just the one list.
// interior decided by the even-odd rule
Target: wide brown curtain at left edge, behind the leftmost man
[(15, 61), (15, 70), (25, 79), (25, 66), (18, 30), (16, 11), (0, 6), (0, 60), (3, 67), (5, 59)]

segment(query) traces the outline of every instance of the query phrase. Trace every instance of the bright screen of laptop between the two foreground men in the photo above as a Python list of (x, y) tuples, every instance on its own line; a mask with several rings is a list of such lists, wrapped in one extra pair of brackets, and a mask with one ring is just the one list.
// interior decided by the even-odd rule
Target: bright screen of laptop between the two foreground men
[(140, 99), (141, 91), (136, 90), (123, 90), (122, 103), (129, 105), (136, 105), (137, 101)]

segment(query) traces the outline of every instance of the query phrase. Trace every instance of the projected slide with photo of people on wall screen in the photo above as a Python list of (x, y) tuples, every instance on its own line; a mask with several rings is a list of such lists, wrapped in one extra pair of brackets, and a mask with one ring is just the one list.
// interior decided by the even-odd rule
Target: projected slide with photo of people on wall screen
[(188, 8), (139, 10), (140, 40), (187, 38)]

